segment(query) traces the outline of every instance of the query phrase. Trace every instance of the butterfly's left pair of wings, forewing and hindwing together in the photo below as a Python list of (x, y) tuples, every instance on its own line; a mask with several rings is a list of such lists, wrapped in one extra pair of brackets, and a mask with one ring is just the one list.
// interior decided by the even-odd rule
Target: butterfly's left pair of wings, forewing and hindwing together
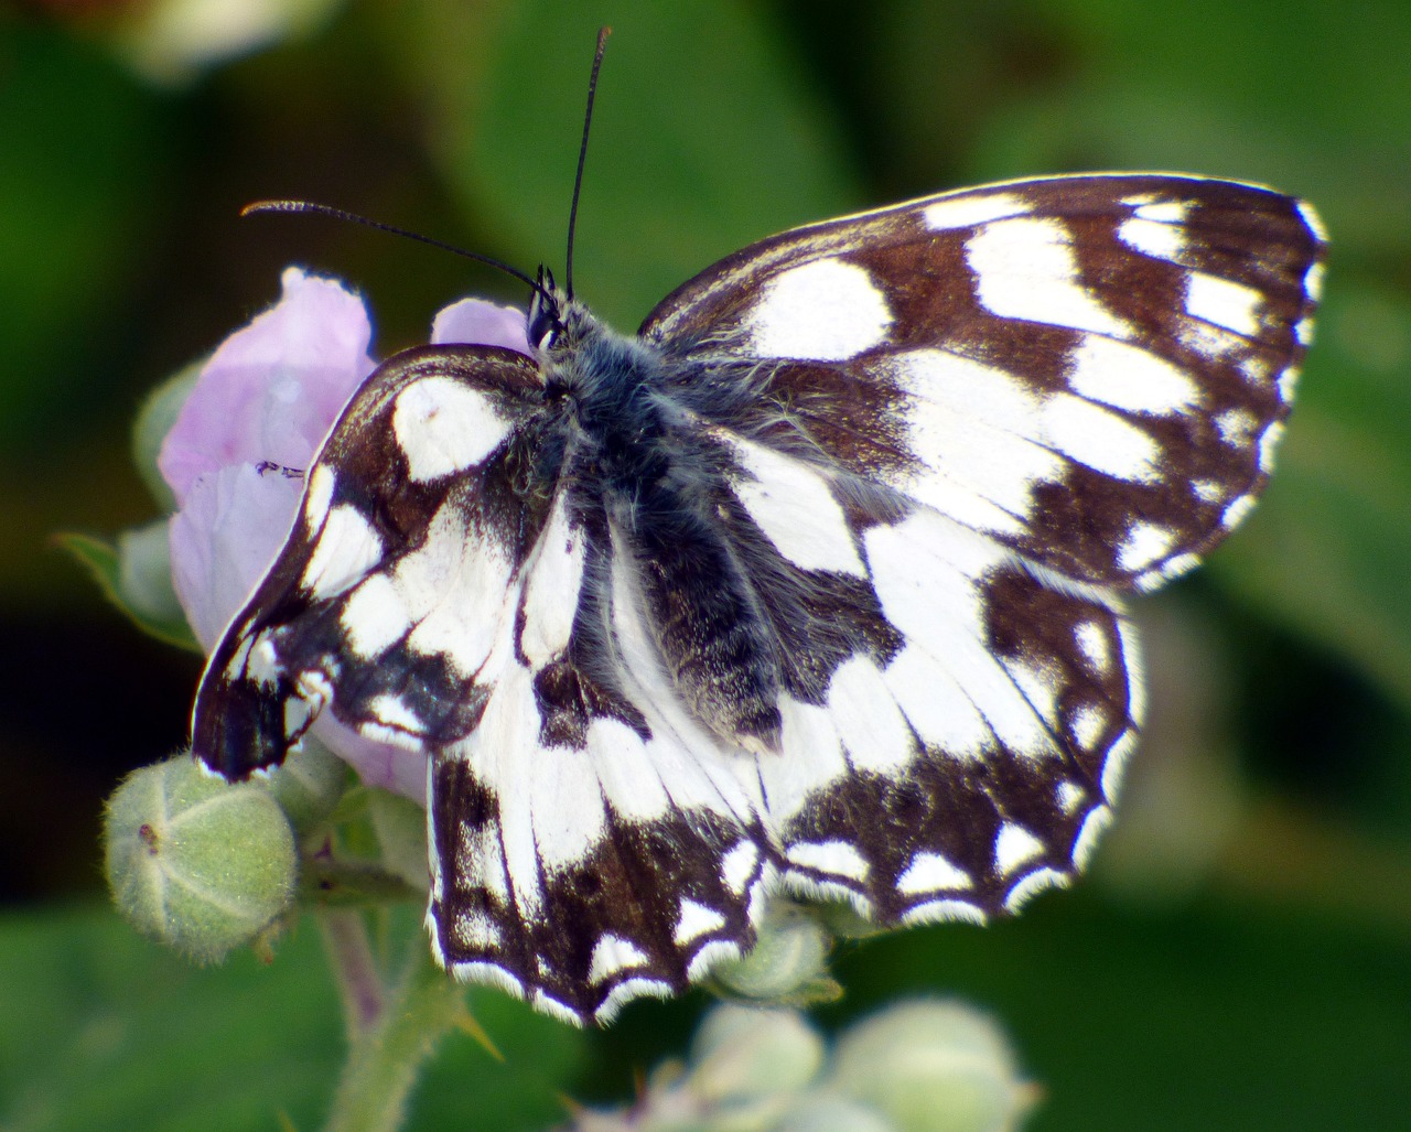
[(193, 749), (244, 778), (327, 710), (426, 752), (437, 958), (607, 1019), (749, 946), (768, 838), (749, 765), (621, 666), (607, 512), (542, 380), (477, 347), (370, 378), (212, 655)]

